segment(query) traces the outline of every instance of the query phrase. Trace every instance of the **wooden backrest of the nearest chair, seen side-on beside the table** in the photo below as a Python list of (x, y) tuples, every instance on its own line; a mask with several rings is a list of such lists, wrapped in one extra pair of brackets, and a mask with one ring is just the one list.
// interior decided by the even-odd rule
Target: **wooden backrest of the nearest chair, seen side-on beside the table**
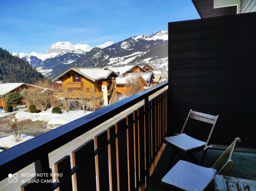
[(220, 156), (220, 158), (216, 161), (216, 163), (212, 166), (212, 168), (218, 170), (220, 166), (225, 162), (228, 158), (228, 161), (222, 166), (222, 168), (217, 172), (217, 174), (226, 175), (234, 166), (235, 161), (232, 160), (234, 151), (236, 149), (237, 143), (241, 143), (240, 138), (236, 138), (231, 145), (229, 145), (228, 149)]

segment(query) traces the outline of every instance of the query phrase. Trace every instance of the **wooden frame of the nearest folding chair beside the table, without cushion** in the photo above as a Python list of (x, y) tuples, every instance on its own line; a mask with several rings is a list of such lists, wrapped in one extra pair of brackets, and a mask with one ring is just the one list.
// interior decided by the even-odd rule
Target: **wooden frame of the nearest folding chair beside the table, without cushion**
[[(237, 143), (241, 143), (241, 139), (240, 138), (236, 138), (231, 143), (231, 145), (229, 145), (229, 147), (226, 149), (226, 151), (224, 151), (224, 153), (220, 156), (220, 158), (214, 163), (214, 165), (212, 165), (211, 168), (217, 170), (216, 174), (226, 175), (235, 166), (236, 163), (235, 163), (234, 160), (232, 160), (232, 157), (233, 157), (234, 151), (235, 151), (235, 149), (237, 147)], [(220, 166), (226, 161), (227, 158), (228, 158), (228, 161), (222, 166), (222, 168), (220, 170), (218, 170), (220, 168)], [(182, 189), (180, 189), (178, 187), (175, 187), (173, 185), (167, 184), (165, 182), (161, 182), (161, 188), (163, 190), (177, 190), (177, 191), (181, 191), (182, 190)], [(214, 178), (204, 188), (204, 191), (208, 191), (208, 190), (214, 190)]]

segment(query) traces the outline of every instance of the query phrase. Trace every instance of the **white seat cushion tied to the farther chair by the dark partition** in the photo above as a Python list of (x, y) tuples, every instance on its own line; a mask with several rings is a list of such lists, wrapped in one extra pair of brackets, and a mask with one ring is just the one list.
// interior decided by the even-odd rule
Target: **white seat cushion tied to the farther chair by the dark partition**
[(206, 144), (206, 142), (199, 141), (191, 136), (186, 135), (185, 133), (177, 136), (166, 137), (165, 140), (184, 150), (194, 149)]

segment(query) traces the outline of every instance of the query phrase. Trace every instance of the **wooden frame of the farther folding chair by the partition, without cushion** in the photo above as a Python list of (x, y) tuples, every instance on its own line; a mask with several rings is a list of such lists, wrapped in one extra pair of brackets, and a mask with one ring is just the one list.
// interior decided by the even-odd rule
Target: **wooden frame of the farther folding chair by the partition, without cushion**
[[(215, 127), (215, 124), (217, 122), (218, 117), (219, 117), (219, 115), (214, 116), (214, 115), (204, 114), (204, 113), (196, 112), (196, 111), (193, 111), (192, 109), (190, 109), (190, 111), (188, 113), (188, 117), (187, 117), (187, 119), (186, 119), (186, 121), (185, 121), (185, 123), (183, 125), (183, 128), (181, 129), (180, 134), (184, 133), (184, 131), (186, 130), (186, 128), (188, 126), (188, 121), (190, 120), (190, 118), (198, 120), (198, 121), (204, 121), (206, 123), (211, 123), (212, 124), (212, 129), (210, 131), (210, 134), (209, 134), (208, 139), (207, 139), (206, 144), (205, 144), (205, 145), (209, 146), (209, 140), (210, 140), (210, 138), (212, 136), (212, 131), (213, 131), (214, 127)], [(184, 150), (184, 149), (181, 149), (181, 148), (177, 147), (176, 145), (174, 145), (174, 144), (172, 144), (172, 143), (170, 143), (170, 142), (168, 142), (166, 140), (165, 140), (165, 143), (168, 143), (172, 147), (172, 149), (174, 151), (169, 165), (171, 165), (171, 163), (172, 163), (176, 153), (183, 160), (188, 161), (188, 159), (185, 157), (185, 156), (188, 156), (189, 158), (191, 158), (191, 160), (195, 164), (202, 165), (202, 163), (204, 161), (204, 158), (205, 158), (205, 155), (206, 155), (207, 150), (208, 150), (208, 148), (203, 150), (203, 148), (205, 147), (204, 145), (201, 146), (201, 147), (194, 148), (194, 149)], [(199, 152), (199, 151), (203, 151), (203, 153), (202, 153), (201, 158), (198, 160), (193, 155), (193, 153), (196, 153), (196, 152)]]

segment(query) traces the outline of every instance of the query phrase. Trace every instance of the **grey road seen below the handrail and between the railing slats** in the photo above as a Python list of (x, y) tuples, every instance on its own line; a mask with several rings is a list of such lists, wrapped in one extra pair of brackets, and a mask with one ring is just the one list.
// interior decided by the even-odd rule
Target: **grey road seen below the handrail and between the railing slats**
[[(159, 92), (154, 93), (149, 97), (149, 100), (155, 97), (157, 94), (160, 92), (164, 91), (167, 88), (164, 88), (163, 90), (160, 90)], [(97, 127), (93, 128), (92, 130), (84, 133), (83, 135), (77, 137), (76, 139), (70, 141), (69, 143), (61, 146), (60, 148), (56, 149), (55, 151), (52, 151), (49, 153), (49, 165), (50, 168), (52, 168), (52, 173), (54, 172), (54, 163), (60, 160), (61, 158), (65, 157), (66, 155), (69, 155), (71, 160), (71, 166), (72, 164), (72, 151), (74, 151), (77, 147), (81, 146), (84, 144), (86, 141), (90, 139), (94, 139), (94, 136), (98, 135), (100, 132), (103, 130), (107, 129), (110, 127), (112, 124), (115, 124), (118, 120), (122, 119), (126, 115), (130, 114), (132, 111), (137, 109), (138, 107), (142, 106), (144, 104), (144, 100), (138, 102), (137, 104), (133, 105), (132, 107), (124, 110), (123, 112), (119, 113), (118, 115), (110, 118), (109, 120), (105, 121), (104, 123), (98, 125)], [(6, 178), (0, 182), (0, 191), (20, 191), (20, 186), (27, 182), (28, 179), (33, 178), (32, 176), (30, 177), (24, 177), (22, 176), (22, 173), (35, 173), (35, 166), (34, 163), (28, 165), (27, 167), (23, 168), (22, 170), (17, 172), (17, 182), (10, 183), (8, 182), (9, 178)], [(55, 179), (55, 178), (53, 178)], [(73, 179), (73, 176), (72, 176)], [(11, 181), (11, 180), (9, 180)], [(73, 181), (72, 181), (73, 182)], [(74, 185), (73, 185), (73, 190)]]

